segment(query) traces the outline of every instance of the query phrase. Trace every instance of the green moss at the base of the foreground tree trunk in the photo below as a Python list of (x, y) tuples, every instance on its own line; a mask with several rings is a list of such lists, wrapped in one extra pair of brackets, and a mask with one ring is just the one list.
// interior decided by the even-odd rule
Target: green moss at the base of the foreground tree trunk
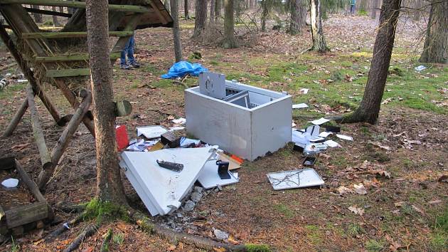
[(85, 220), (96, 219), (98, 224), (114, 219), (130, 221), (129, 214), (124, 206), (119, 206), (109, 201), (103, 202), (97, 198), (92, 199), (87, 204), (82, 217)]

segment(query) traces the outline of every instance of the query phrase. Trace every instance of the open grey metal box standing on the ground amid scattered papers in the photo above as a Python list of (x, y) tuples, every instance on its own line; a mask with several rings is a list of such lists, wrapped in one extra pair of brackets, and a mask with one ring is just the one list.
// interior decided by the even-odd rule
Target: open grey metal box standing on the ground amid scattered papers
[(291, 142), (291, 95), (225, 80), (228, 90), (247, 90), (250, 108), (185, 90), (186, 130), (250, 161)]

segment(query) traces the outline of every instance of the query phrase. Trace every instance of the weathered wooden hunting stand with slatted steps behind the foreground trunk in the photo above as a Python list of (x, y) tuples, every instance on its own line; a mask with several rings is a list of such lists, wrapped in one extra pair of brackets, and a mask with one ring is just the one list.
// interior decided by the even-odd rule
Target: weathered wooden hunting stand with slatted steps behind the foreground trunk
[[(76, 11), (74, 14), (66, 14), (33, 9), (23, 5), (66, 6), (75, 8)], [(80, 122), (83, 122), (87, 130), (95, 137), (92, 124), (93, 116), (89, 110), (92, 103), (89, 85), (85, 89), (70, 88), (68, 85), (73, 80), (82, 80), (87, 83), (88, 79), (82, 78), (82, 76), (90, 75), (85, 8), (86, 4), (83, 1), (0, 0), (0, 12), (7, 22), (7, 24), (1, 23), (1, 40), (4, 41), (30, 83), (26, 88), (26, 100), (23, 101), (3, 135), (4, 137), (12, 135), (29, 107), (33, 135), (42, 162), (42, 171), (38, 176), (38, 187), (42, 191)], [(62, 30), (48, 32), (41, 31), (28, 13), (70, 16), (70, 18)], [(171, 27), (172, 22), (171, 16), (160, 0), (110, 0), (110, 36), (118, 37), (110, 52), (111, 63), (113, 64), (119, 58), (122, 48), (134, 34), (135, 29), (157, 26)], [(10, 28), (14, 32), (16, 41), (9, 36), (6, 28)], [(73, 53), (73, 48), (78, 48), (78, 51)], [(41, 83), (46, 81), (55, 84), (63, 93), (75, 110), (73, 115), (60, 115), (43, 91)], [(58, 125), (66, 125), (51, 154), (38, 119), (35, 95), (38, 95)], [(79, 98), (82, 100), (79, 101)]]

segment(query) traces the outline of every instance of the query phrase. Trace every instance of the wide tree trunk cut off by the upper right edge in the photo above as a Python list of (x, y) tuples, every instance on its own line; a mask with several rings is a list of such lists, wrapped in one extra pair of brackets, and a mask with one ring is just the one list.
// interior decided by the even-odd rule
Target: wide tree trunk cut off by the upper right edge
[(432, 0), (420, 62), (448, 63), (448, 1)]

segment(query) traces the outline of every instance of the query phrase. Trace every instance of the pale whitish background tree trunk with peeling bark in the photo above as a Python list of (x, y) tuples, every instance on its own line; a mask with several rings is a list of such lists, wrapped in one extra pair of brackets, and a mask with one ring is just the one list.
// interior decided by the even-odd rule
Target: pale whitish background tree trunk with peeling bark
[(310, 0), (309, 9), (311, 37), (313, 39), (313, 46), (310, 51), (319, 51), (321, 53), (329, 51), (324, 38), (324, 29), (322, 28), (321, 1)]

